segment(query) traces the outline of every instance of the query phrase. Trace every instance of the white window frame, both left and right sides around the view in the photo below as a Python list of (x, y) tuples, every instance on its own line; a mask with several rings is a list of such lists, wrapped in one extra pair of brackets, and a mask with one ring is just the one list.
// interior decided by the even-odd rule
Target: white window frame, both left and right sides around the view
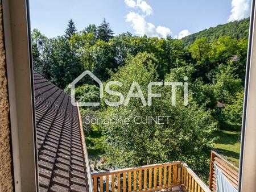
[[(15, 191), (39, 191), (28, 0), (5, 0), (3, 23)], [(238, 191), (256, 189), (256, 29), (252, 0)]]

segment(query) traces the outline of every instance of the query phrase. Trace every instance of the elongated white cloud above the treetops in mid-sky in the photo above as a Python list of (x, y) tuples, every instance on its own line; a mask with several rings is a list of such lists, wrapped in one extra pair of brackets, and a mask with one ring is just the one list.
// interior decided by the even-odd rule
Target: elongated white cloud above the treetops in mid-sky
[(139, 36), (147, 35), (149, 37), (163, 37), (171, 34), (170, 28), (158, 26), (147, 22), (143, 15), (137, 12), (129, 12), (126, 15), (126, 22), (131, 22), (131, 27), (135, 30), (135, 34)]

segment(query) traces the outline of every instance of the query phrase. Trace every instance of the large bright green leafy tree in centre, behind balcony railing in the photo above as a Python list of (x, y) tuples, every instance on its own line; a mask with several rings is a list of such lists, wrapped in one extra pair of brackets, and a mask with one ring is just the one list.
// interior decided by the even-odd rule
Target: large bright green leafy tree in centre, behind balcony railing
[[(138, 53), (127, 65), (119, 68), (111, 80), (120, 81), (122, 87), (113, 87), (126, 95), (133, 81), (141, 86), (143, 95), (147, 98), (147, 85), (158, 81), (156, 72), (157, 60), (149, 53)], [(183, 99), (177, 98), (177, 105), (171, 105), (171, 90), (155, 87), (153, 91), (164, 97), (155, 98), (152, 106), (143, 106), (141, 99), (130, 99), (129, 105), (107, 107), (103, 111), (105, 118), (115, 117), (129, 119), (130, 123), (113, 122), (104, 124), (108, 162), (112, 167), (125, 168), (160, 162), (181, 160), (204, 178), (208, 177), (208, 151), (212, 147), (212, 131), (215, 123), (209, 111), (203, 111), (195, 102), (185, 107)], [(136, 116), (163, 115), (163, 124), (133, 122)], [(145, 121), (145, 119), (143, 119)]]

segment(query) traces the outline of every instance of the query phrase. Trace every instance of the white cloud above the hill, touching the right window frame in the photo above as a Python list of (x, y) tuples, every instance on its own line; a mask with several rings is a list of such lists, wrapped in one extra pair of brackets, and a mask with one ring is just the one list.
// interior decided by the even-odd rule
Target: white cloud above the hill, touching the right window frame
[(250, 0), (232, 0), (231, 15), (229, 15), (229, 22), (234, 20), (241, 20), (250, 15)]

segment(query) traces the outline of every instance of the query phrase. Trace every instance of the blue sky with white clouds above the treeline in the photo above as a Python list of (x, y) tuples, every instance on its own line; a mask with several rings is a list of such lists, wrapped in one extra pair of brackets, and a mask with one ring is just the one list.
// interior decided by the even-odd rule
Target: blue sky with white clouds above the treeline
[(31, 27), (47, 37), (64, 35), (106, 18), (115, 34), (183, 37), (250, 15), (250, 0), (30, 0)]

